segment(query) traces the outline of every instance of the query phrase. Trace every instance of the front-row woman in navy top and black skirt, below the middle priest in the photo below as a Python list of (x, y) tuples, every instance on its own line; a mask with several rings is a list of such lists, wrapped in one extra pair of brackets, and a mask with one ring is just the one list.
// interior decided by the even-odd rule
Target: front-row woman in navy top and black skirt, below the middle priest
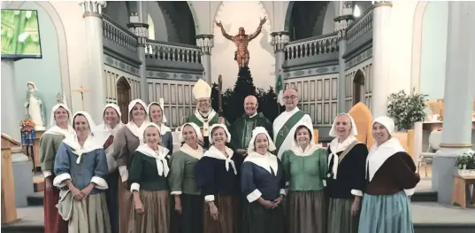
[(252, 130), (248, 156), (241, 166), (242, 233), (284, 233), (284, 171), (270, 151), (275, 144), (264, 127)]

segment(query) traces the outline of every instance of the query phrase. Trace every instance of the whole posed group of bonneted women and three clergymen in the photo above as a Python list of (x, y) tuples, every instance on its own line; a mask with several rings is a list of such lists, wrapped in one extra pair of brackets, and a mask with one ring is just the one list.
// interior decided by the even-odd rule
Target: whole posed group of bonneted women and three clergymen
[(193, 94), (179, 150), (161, 103), (133, 100), (126, 124), (105, 105), (99, 126), (55, 105), (40, 139), (45, 232), (414, 232), (409, 197), (420, 178), (393, 120), (374, 120), (368, 151), (341, 113), (322, 148), (295, 89), (273, 122), (249, 96), (232, 125), (211, 108), (206, 82)]

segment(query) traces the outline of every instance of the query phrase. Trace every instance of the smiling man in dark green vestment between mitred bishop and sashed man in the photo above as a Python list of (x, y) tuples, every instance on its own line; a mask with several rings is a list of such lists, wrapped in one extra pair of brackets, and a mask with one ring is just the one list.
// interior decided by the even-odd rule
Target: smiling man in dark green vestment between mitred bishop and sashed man
[(245, 113), (236, 119), (230, 128), (231, 148), (240, 155), (247, 153), (254, 128), (264, 127), (269, 135), (272, 135), (272, 122), (265, 118), (263, 113), (257, 113), (257, 107), (257, 97), (246, 97), (244, 99)]

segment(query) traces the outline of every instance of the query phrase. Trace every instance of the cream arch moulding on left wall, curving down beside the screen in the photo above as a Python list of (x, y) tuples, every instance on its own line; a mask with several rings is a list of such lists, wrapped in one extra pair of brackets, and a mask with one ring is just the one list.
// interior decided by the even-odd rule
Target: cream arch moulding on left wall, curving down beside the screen
[[(11, 2), (8, 8), (10, 9), (19, 9), (19, 7), (25, 3), (25, 1)], [(69, 61), (67, 53), (67, 41), (65, 35), (65, 26), (63, 25), (63, 20), (59, 17), (56, 9), (50, 2), (35, 1), (35, 4), (38, 4), (45, 12), (50, 16), (51, 21), (56, 29), (57, 35), (57, 49), (59, 51), (59, 74), (61, 75), (61, 89), (65, 93), (66, 104), (68, 106), (73, 106), (71, 102), (71, 86), (69, 80)]]

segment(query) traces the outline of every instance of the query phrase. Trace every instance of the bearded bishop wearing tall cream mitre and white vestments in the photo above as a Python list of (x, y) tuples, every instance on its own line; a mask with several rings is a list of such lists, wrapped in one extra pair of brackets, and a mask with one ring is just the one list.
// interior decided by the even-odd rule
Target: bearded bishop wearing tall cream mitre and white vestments
[(196, 111), (188, 117), (187, 122), (193, 122), (201, 129), (203, 134), (203, 148), (208, 148), (210, 145), (209, 136), (211, 126), (221, 123), (229, 127), (229, 123), (223, 117), (219, 117), (218, 113), (212, 109), (211, 87), (208, 83), (202, 79), (198, 80), (193, 87), (193, 96), (195, 96), (196, 99)]

